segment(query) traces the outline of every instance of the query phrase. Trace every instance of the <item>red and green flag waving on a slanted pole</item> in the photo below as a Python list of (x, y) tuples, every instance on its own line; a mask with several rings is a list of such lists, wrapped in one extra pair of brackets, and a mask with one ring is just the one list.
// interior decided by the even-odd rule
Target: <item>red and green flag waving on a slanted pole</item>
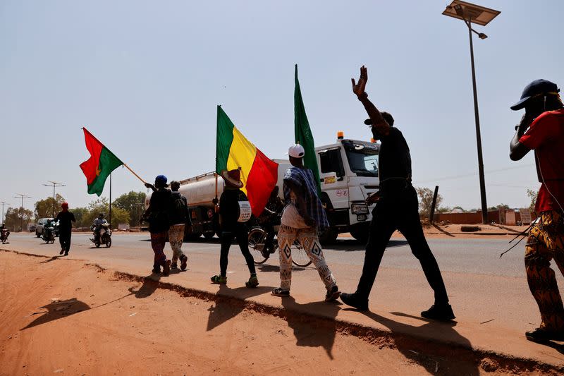
[(84, 130), (86, 148), (90, 152), (90, 159), (82, 162), (80, 168), (86, 176), (88, 193), (102, 195), (106, 178), (111, 174), (111, 171), (121, 166), (123, 162), (102, 145), (102, 142), (99, 142), (86, 128), (82, 129)]

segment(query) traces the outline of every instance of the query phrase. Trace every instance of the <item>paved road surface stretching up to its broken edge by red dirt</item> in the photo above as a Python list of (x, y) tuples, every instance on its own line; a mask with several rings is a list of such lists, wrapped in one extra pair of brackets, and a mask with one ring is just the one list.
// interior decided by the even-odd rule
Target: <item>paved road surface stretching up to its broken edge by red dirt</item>
[[(102, 267), (117, 269), (137, 275), (149, 275), (153, 253), (148, 234), (114, 234), (111, 248), (94, 248), (88, 240), (89, 234), (73, 234), (71, 255), (67, 258), (87, 260)], [(59, 245), (44, 244), (32, 234), (11, 234), (11, 244), (0, 245), (1, 249), (18, 250), (37, 255), (56, 256), (43, 262), (59, 260)], [(526, 341), (523, 332), (539, 324), (539, 313), (528, 291), (522, 255), (525, 245), (520, 243), (503, 258), (499, 254), (508, 247), (508, 240), (486, 237), (470, 239), (429, 239), (457, 315), (456, 330), (430, 330), (417, 320), (419, 312), (433, 303), (433, 293), (424, 278), (419, 262), (410, 253), (405, 239), (393, 238), (381, 265), (376, 284), (370, 295), (370, 310), (379, 316), (359, 315), (346, 310), (334, 310), (328, 305), (322, 310), (329, 317), (360, 322), (362, 325), (384, 326), (393, 323), (393, 330), (414, 331), (420, 329), (424, 336), (443, 336), (443, 339), (458, 343), (471, 343), (485, 349), (507, 351), (515, 356), (537, 356), (537, 358), (564, 364), (564, 356), (556, 350)], [(209, 277), (219, 272), (219, 242), (190, 242), (183, 245), (189, 257), (188, 270), (161, 277), (170, 281), (215, 293), (216, 285)], [(171, 255), (166, 245), (167, 255)], [(341, 291), (354, 291), (362, 271), (364, 250), (357, 242), (340, 238), (336, 245), (324, 250), (327, 262), (335, 275)], [(1, 262), (1, 257), (0, 257)], [(279, 283), (278, 257), (272, 257), (258, 268), (261, 286), (267, 289), (245, 293), (243, 298), (252, 298), (266, 304), (279, 304), (279, 298), (265, 291)], [(564, 279), (558, 274), (558, 283)], [(233, 294), (240, 295), (239, 286), (244, 286), (248, 271), (238, 247), (233, 245), (229, 257), (228, 286)], [(312, 267), (295, 267), (292, 296), (298, 308), (307, 309), (308, 302), (318, 302), (324, 297), (324, 286)], [(306, 303), (306, 304), (302, 304)], [(317, 305), (316, 305), (317, 307)], [(326, 312), (324, 312), (326, 311)], [(406, 325), (407, 324), (407, 325)], [(406, 329), (407, 328), (407, 329)], [(537, 347), (532, 347), (537, 346)]]

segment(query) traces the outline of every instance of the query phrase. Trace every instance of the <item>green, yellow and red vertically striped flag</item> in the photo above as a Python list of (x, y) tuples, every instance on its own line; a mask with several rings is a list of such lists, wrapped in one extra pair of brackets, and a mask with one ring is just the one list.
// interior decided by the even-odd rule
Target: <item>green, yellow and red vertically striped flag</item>
[(216, 172), (241, 169), (243, 192), (252, 214), (258, 217), (278, 180), (278, 164), (262, 154), (233, 125), (221, 107), (217, 107)]

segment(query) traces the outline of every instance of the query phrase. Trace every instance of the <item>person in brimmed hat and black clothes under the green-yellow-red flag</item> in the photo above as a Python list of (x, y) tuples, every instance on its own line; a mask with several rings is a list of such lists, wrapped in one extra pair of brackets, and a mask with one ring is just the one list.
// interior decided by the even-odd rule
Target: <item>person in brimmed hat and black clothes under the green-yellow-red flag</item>
[(257, 287), (259, 279), (255, 270), (255, 260), (249, 251), (249, 239), (247, 235), (247, 226), (245, 226), (243, 216), (241, 215), (240, 202), (248, 202), (247, 195), (240, 188), (243, 188), (241, 181), (241, 170), (233, 169), (229, 171), (221, 171), (221, 177), (225, 181), (225, 190), (219, 198), (219, 222), (221, 224), (221, 254), (219, 257), (219, 274), (212, 277), (214, 284), (227, 283), (227, 263), (229, 248), (233, 238), (237, 238), (237, 243), (245, 257), (247, 267), (251, 274), (249, 280), (245, 283), (247, 287)]

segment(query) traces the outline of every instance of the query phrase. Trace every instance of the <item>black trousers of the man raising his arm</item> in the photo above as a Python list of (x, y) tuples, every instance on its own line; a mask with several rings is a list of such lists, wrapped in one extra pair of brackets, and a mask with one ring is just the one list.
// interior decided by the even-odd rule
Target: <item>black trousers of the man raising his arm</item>
[(383, 193), (382, 198), (376, 202), (376, 207), (372, 210), (362, 277), (360, 277), (356, 291), (359, 298), (368, 298), (386, 245), (393, 231), (399, 230), (407, 239), (411, 252), (421, 263), (425, 277), (431, 289), (434, 290), (435, 303), (448, 303), (441, 270), (425, 240), (418, 209), (417, 193), (410, 184), (395, 187), (393, 193)]

